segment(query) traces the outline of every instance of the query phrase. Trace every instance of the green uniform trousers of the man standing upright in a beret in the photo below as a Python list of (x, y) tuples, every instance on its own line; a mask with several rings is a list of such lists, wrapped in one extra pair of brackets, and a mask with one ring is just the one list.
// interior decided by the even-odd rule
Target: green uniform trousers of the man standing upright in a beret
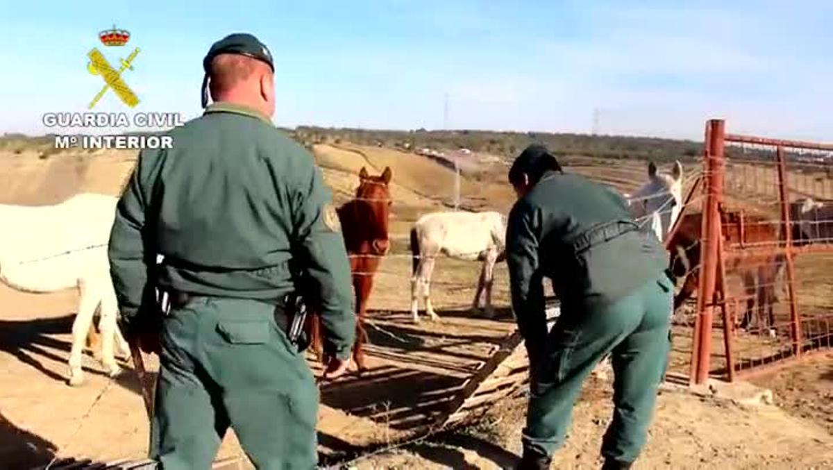
[(150, 457), (165, 470), (211, 468), (231, 425), (256, 468), (315, 468), (318, 392), (296, 351), (267, 303), (192, 298), (172, 310)]

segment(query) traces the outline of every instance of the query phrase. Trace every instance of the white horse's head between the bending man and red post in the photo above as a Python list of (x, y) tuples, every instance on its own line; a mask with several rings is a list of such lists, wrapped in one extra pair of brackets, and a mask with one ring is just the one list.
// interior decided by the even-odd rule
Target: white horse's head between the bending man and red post
[(664, 240), (682, 209), (682, 165), (676, 161), (671, 174), (666, 174), (658, 173), (656, 165), (649, 162), (648, 182), (626, 198), (636, 221), (650, 223), (656, 238)]

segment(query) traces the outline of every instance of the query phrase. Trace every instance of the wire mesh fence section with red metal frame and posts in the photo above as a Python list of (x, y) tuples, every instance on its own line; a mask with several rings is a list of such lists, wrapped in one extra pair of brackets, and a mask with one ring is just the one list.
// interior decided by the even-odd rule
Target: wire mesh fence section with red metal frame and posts
[(831, 145), (731, 135), (724, 122), (708, 123), (693, 382), (830, 348), (831, 153)]

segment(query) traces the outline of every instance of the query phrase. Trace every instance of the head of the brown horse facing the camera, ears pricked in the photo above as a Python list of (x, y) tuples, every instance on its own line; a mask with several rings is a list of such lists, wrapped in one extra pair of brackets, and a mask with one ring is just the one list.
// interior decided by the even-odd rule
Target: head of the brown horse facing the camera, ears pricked
[(362, 242), (370, 244), (373, 254), (386, 255), (391, 248), (388, 238), (388, 222), (391, 216), (392, 171), (386, 167), (381, 175), (372, 176), (367, 168), (359, 172), (359, 187), (356, 189), (357, 214), (353, 221), (362, 226)]

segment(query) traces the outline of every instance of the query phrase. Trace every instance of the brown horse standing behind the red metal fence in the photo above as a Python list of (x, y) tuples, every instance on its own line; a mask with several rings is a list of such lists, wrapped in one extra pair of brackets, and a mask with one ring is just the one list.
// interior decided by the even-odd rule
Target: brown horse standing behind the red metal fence
[[(668, 242), (671, 251), (671, 273), (674, 277), (683, 278), (680, 293), (674, 297), (674, 311), (681, 307), (691, 295), (696, 292), (699, 278), (700, 247), (701, 247), (701, 213), (686, 214), (680, 220), (679, 228)], [(738, 212), (721, 213), (721, 226), (724, 246), (741, 245), (746, 243), (779, 243), (780, 229), (766, 218), (754, 214)], [(775, 324), (773, 304), (776, 298), (776, 278), (784, 266), (785, 258), (778, 254), (756, 254), (752, 257), (728, 257), (725, 260), (726, 273), (736, 273), (741, 277), (746, 292), (746, 311), (743, 314), (740, 328), (747, 329), (751, 323), (753, 309), (757, 303), (759, 321), (766, 320), (769, 328)], [(752, 266), (744, 266), (751, 264)], [(765, 331), (761, 328), (761, 332)]]

